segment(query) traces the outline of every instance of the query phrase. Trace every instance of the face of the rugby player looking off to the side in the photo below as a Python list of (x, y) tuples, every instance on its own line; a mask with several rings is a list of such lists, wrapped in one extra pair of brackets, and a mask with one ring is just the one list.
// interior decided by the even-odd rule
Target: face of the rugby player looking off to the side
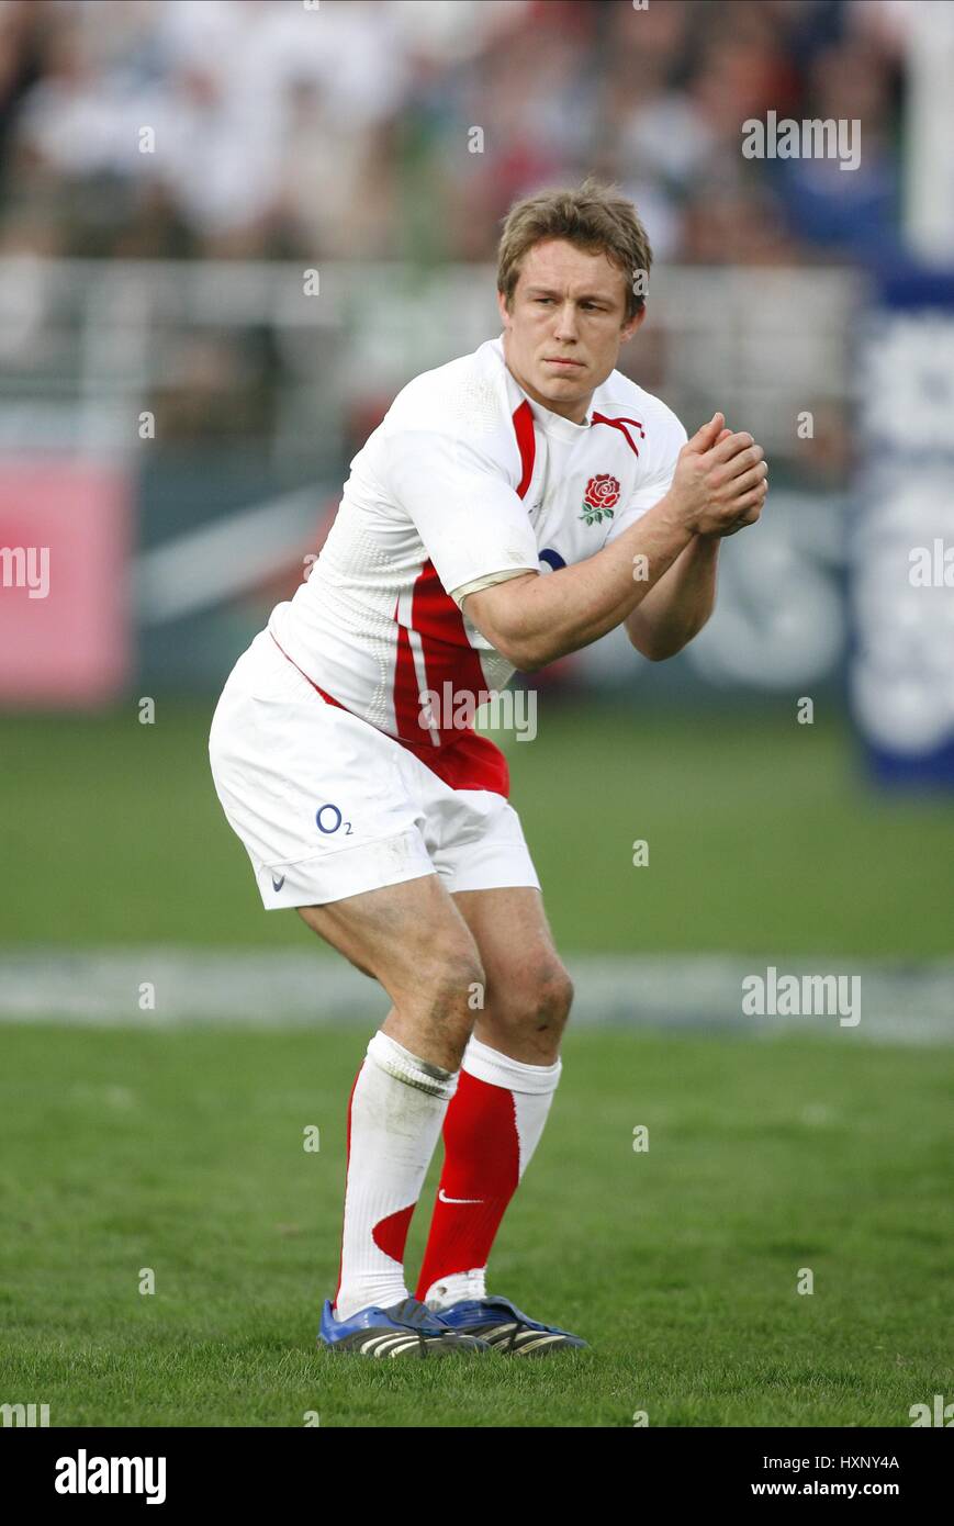
[(604, 253), (588, 255), (562, 238), (527, 252), (510, 310), (499, 291), (498, 305), (507, 366), (536, 403), (585, 421), (620, 345), (646, 316), (627, 320), (626, 296), (626, 276)]

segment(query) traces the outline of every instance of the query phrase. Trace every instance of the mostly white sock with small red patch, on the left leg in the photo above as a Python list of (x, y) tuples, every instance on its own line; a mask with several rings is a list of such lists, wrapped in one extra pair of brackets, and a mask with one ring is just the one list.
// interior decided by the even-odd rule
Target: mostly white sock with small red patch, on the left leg
[(386, 1033), (368, 1044), (348, 1109), (339, 1320), (409, 1297), (404, 1242), (456, 1080)]

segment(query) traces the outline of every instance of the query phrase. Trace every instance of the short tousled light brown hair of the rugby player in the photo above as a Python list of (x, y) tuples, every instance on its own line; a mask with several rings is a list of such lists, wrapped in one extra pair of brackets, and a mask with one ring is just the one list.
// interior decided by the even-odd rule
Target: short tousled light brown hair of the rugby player
[(513, 203), (498, 247), (498, 291), (508, 308), (524, 256), (545, 238), (565, 238), (586, 253), (604, 253), (626, 276), (626, 317), (643, 311), (653, 255), (635, 206), (618, 186), (588, 175), (574, 191), (537, 191)]

